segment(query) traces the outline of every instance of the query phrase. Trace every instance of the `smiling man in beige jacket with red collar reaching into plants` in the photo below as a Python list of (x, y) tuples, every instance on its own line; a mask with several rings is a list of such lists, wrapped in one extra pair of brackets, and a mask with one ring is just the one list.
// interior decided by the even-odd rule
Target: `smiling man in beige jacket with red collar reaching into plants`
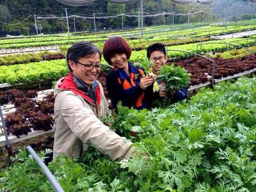
[(108, 111), (102, 85), (101, 51), (90, 42), (77, 42), (67, 52), (70, 73), (54, 88), (54, 160), (58, 154), (80, 157), (93, 146), (112, 160), (130, 157), (132, 143), (101, 122)]

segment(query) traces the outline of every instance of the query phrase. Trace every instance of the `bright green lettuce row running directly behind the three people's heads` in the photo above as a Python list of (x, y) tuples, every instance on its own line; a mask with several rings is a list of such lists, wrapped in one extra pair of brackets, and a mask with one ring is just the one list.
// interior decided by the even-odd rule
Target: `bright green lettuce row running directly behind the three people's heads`
[[(237, 38), (238, 39), (238, 38)], [(227, 39), (226, 42), (231, 42), (234, 39)], [(236, 42), (237, 45), (252, 45), (255, 44), (255, 40), (246, 40), (241, 39), (243, 41)], [(221, 41), (211, 41), (211, 42), (221, 42)], [(186, 45), (179, 46), (170, 46), (168, 50), (188, 50), (192, 52), (196, 52), (196, 47), (198, 43), (191, 43)], [(199, 47), (200, 48), (200, 47)], [(203, 52), (209, 51), (218, 51), (225, 50), (225, 44), (210, 44), (202, 46), (202, 49), (199, 49)], [(169, 58), (174, 57), (187, 57), (191, 54), (178, 52), (178, 51), (168, 51)], [(145, 59), (146, 50), (141, 51), (133, 51), (130, 61), (140, 62)], [(102, 58), (102, 63), (105, 63)], [(54, 61), (41, 61), (37, 63), (29, 63), (29, 64), (18, 64), (18, 65), (10, 65), (10, 66), (0, 66), (0, 83), (10, 83), (16, 84), (20, 82), (29, 82), (29, 81), (38, 81), (38, 80), (48, 80), (48, 79), (57, 79), (61, 76), (64, 76), (68, 73), (66, 68), (66, 60), (54, 60)]]

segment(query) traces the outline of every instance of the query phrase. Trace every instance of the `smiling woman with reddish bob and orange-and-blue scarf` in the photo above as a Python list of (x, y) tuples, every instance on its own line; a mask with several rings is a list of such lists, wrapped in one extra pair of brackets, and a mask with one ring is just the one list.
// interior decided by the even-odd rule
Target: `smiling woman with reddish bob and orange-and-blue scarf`
[(149, 108), (153, 100), (155, 74), (147, 74), (143, 69), (132, 65), (128, 60), (132, 54), (131, 47), (122, 37), (109, 38), (103, 47), (105, 60), (114, 68), (106, 77), (106, 87), (112, 103), (135, 109)]

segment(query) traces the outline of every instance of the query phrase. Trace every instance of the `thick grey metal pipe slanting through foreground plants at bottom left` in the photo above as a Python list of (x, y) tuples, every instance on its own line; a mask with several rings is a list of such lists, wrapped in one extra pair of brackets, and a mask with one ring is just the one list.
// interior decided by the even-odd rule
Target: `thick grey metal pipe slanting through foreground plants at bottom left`
[(26, 146), (28, 152), (33, 156), (37, 164), (43, 170), (43, 173), (50, 180), (50, 183), (53, 185), (53, 188), (56, 192), (64, 192), (63, 188), (58, 183), (58, 180), (53, 176), (48, 167), (44, 164), (44, 162), (40, 159), (40, 157), (35, 153), (31, 146)]

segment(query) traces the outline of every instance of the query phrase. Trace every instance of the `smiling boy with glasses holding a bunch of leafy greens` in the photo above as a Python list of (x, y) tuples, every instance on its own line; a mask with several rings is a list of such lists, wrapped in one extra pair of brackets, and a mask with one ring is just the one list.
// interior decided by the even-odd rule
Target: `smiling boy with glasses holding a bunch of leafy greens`
[[(163, 67), (167, 60), (168, 56), (166, 54), (166, 50), (163, 44), (155, 43), (147, 48), (147, 58), (151, 60), (152, 67), (151, 71), (156, 76), (159, 75), (159, 70)], [(155, 81), (153, 86), (154, 95), (156, 98), (163, 100), (163, 97), (169, 95), (172, 101), (183, 100), (187, 98), (187, 88), (181, 88), (180, 90), (171, 89), (167, 94), (165, 87), (163, 86), (163, 82), (159, 79)]]

